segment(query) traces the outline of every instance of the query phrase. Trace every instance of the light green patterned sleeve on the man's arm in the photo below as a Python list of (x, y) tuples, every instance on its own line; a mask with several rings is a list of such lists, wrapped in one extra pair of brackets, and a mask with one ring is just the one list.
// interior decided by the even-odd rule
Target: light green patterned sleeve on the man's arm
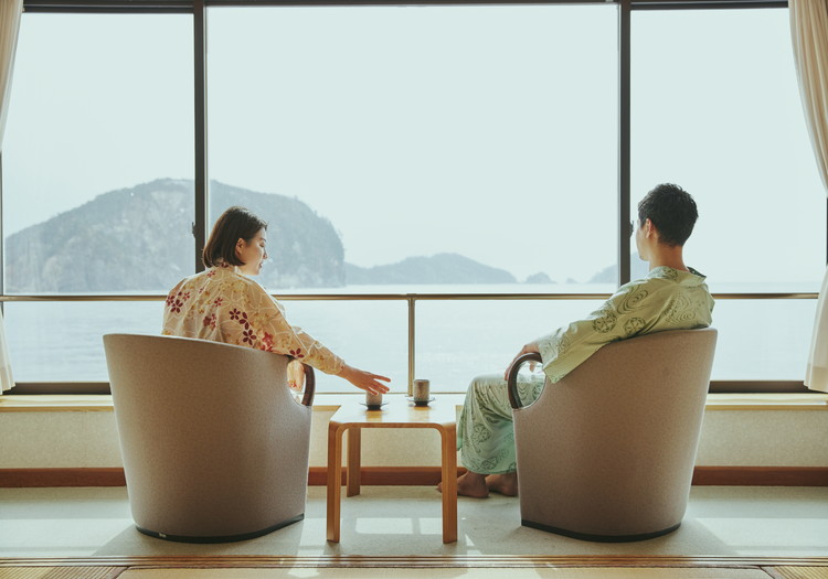
[(602, 346), (648, 328), (654, 312), (647, 286), (646, 281), (627, 283), (585, 319), (535, 340), (549, 380), (560, 380)]

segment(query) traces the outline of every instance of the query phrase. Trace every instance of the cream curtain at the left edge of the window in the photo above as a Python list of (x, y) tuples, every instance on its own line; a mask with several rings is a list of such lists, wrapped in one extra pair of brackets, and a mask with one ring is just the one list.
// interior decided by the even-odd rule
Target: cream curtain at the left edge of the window
[[(9, 114), (11, 73), (14, 68), (14, 51), (18, 46), (22, 13), (23, 0), (0, 0), (0, 151), (2, 151), (6, 117)], [(6, 344), (6, 326), (0, 313), (0, 393), (13, 386), (9, 349)]]

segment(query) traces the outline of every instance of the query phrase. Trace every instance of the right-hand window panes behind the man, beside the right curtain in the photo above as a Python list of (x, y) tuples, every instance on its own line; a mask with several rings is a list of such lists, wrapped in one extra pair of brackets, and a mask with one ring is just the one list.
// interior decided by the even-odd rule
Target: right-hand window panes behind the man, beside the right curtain
[[(819, 291), (825, 191), (787, 11), (644, 11), (631, 29), (633, 190), (670, 181), (696, 197), (686, 257), (711, 291)], [(718, 300), (713, 379), (802, 379), (815, 305)]]

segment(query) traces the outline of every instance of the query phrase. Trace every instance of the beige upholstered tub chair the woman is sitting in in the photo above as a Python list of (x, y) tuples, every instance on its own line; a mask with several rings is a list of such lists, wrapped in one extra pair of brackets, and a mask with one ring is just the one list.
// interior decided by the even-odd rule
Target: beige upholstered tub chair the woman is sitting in
[(311, 368), (299, 404), (286, 356), (160, 335), (108, 334), (104, 347), (141, 533), (223, 543), (304, 517)]

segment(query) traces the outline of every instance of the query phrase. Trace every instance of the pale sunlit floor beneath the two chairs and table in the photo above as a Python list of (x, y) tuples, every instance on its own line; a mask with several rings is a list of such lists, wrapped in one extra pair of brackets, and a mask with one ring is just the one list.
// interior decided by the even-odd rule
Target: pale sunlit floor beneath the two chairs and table
[(499, 495), (460, 498), (458, 519), (443, 544), (437, 491), (364, 486), (329, 543), (311, 486), (299, 523), (193, 545), (138, 533), (123, 487), (0, 489), (0, 579), (828, 579), (825, 487), (697, 486), (677, 532), (627, 544), (523, 527), (518, 500)]

